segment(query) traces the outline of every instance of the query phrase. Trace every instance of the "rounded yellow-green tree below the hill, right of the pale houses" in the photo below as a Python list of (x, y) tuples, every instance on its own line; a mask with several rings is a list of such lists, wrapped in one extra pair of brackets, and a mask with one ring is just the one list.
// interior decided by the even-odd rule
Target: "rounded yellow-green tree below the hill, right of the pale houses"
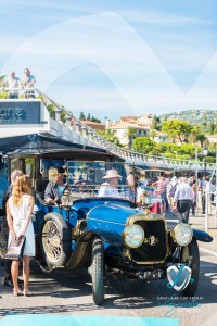
[(163, 123), (162, 131), (171, 138), (173, 142), (175, 142), (176, 137), (178, 137), (182, 143), (183, 141), (188, 141), (191, 125), (181, 120), (168, 120)]

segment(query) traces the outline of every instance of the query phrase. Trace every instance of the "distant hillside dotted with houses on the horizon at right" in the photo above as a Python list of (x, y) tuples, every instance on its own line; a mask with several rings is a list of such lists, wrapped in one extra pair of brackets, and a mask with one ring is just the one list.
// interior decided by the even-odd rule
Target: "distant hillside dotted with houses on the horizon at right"
[(202, 124), (203, 122), (216, 122), (217, 110), (187, 110), (180, 112), (171, 112), (158, 115), (161, 122), (166, 120), (183, 120), (191, 125)]

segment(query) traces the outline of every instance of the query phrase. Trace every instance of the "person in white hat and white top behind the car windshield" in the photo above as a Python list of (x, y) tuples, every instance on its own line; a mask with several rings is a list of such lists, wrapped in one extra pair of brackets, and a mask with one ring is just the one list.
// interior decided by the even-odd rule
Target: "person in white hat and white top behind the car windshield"
[(105, 176), (102, 177), (105, 181), (101, 185), (98, 196), (99, 197), (120, 197), (117, 185), (122, 178), (117, 171), (112, 168), (107, 170)]

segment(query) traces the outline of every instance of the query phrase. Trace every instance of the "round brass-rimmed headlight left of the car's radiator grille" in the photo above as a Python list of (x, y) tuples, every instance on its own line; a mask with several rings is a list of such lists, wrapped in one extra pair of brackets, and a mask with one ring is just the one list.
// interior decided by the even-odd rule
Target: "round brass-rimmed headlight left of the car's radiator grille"
[(137, 224), (128, 225), (124, 230), (124, 237), (128, 247), (137, 248), (144, 239), (143, 228)]

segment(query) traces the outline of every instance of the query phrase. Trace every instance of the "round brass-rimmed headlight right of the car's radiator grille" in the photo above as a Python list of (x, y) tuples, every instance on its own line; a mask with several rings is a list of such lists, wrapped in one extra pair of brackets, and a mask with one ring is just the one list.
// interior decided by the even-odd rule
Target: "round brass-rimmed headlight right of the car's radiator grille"
[(179, 246), (189, 244), (189, 242), (192, 240), (192, 228), (188, 224), (180, 223), (174, 228), (174, 238)]

